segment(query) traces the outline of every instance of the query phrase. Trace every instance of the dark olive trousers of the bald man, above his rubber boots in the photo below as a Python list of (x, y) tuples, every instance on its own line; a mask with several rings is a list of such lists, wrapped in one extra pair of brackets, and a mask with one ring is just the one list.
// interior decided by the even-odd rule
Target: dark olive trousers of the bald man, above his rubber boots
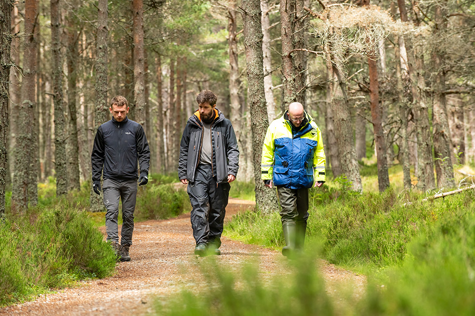
[(304, 224), (308, 219), (308, 189), (287, 189), (277, 187), (277, 196), (281, 203), (280, 212), (282, 225)]

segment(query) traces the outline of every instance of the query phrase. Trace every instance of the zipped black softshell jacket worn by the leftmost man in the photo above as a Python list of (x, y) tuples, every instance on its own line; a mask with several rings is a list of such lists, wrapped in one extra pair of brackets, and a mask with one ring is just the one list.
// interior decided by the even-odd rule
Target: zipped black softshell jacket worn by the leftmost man
[(94, 139), (91, 163), (93, 182), (100, 181), (102, 167), (104, 179), (137, 180), (140, 173), (148, 175), (150, 149), (142, 126), (129, 120), (112, 120), (97, 129)]

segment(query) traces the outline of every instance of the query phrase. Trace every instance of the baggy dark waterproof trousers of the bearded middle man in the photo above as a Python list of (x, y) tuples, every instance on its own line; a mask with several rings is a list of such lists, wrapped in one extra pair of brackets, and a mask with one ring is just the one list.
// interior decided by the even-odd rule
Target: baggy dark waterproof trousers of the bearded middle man
[(196, 245), (221, 245), (224, 217), (228, 205), (229, 183), (216, 183), (211, 165), (199, 164), (194, 182), (188, 183), (191, 203), (191, 227)]

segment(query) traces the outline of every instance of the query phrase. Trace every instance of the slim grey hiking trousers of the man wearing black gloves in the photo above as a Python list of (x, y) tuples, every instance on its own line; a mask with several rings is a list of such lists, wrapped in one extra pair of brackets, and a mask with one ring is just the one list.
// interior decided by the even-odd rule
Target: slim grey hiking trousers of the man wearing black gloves
[(119, 229), (117, 217), (119, 216), (119, 198), (122, 200), (122, 230), (121, 245), (132, 245), (132, 233), (134, 231), (134, 211), (137, 200), (137, 181), (117, 181), (104, 179), (102, 188), (104, 192), (105, 230), (107, 240), (119, 242)]

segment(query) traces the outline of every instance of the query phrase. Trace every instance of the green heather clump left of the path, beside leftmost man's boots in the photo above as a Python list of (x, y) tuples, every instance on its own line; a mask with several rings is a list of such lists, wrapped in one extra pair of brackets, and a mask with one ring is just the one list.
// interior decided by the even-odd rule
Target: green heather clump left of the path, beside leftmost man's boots
[(114, 271), (115, 254), (84, 211), (62, 203), (38, 213), (0, 224), (0, 305)]

